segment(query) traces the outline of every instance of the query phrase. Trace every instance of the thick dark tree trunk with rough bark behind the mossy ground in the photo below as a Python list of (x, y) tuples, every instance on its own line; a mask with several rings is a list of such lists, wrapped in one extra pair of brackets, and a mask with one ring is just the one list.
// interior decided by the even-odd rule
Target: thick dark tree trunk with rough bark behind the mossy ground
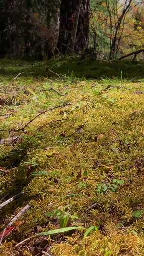
[(89, 0), (62, 0), (57, 45), (60, 53), (88, 49), (88, 34)]

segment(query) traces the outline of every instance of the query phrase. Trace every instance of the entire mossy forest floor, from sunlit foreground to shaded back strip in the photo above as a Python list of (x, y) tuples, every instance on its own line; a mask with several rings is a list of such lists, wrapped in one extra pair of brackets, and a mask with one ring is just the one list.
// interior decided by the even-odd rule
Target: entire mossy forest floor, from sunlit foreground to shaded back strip
[(0, 63), (0, 256), (144, 256), (142, 63)]

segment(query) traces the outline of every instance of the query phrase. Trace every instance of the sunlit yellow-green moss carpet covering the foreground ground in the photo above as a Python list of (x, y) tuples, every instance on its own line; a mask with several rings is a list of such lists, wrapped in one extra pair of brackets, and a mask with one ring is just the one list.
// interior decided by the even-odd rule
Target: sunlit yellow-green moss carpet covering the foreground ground
[[(32, 82), (31, 92), (37, 95), (37, 102), (30, 92), (26, 96), (18, 95), (18, 101), (22, 97), (25, 103), (28, 99), (30, 101), (19, 108), (15, 106), (16, 113), (1, 124), (2, 128), (23, 126), (40, 111), (63, 102), (54, 92), (40, 92), (45, 82), (45, 79), (41, 83)], [(7, 169), (6, 174), (0, 176), (1, 197), (8, 192), (15, 195), (24, 191), (20, 199), (2, 209), (5, 223), (24, 205), (31, 205), (20, 218), (23, 224), (6, 238), (6, 241), (13, 239), (13, 242), (2, 244), (2, 256), (19, 255), (13, 245), (19, 239), (33, 235), (37, 226), (37, 233), (59, 228), (60, 219), (50, 218), (45, 213), (63, 210), (64, 207), (64, 214), (82, 215), (74, 219), (73, 225), (88, 228), (99, 223), (99, 230), (91, 231), (84, 241), (84, 231), (79, 230), (51, 237), (54, 241), (48, 240), (47, 246), (52, 248), (54, 256), (105, 256), (107, 252), (113, 256), (144, 255), (144, 214), (138, 219), (132, 216), (133, 211), (144, 209), (144, 95), (131, 93), (139, 85), (120, 83), (122, 89), (111, 88), (106, 92), (108, 97), (103, 94), (97, 96), (89, 81), (70, 84), (64, 97), (65, 101), (71, 102), (70, 106), (36, 118), (26, 128), (26, 134), (19, 133), (23, 137), (21, 143), (1, 145), (1, 156), (13, 148), (25, 152), (17, 166)], [(60, 85), (55, 83), (60, 88), (64, 85), (64, 82)], [(101, 91), (107, 85), (99, 83), (95, 87)], [(126, 90), (126, 87), (132, 87), (132, 90)], [(112, 103), (109, 98), (115, 99), (115, 102)], [(65, 118), (68, 119), (46, 125)], [(84, 122), (85, 125), (78, 130)], [(40, 131), (36, 130), (40, 126)], [(13, 158), (5, 159), (4, 164), (7, 165), (7, 161), (12, 163)], [(0, 164), (3, 161), (0, 159)], [(37, 165), (28, 176), (28, 165), (32, 162)], [(84, 177), (85, 170), (88, 177)], [(46, 171), (46, 174), (32, 175), (32, 172), (38, 174), (39, 171)], [(124, 183), (119, 184), (116, 191), (97, 192), (99, 184), (112, 185), (114, 179)], [(84, 212), (94, 203), (96, 206), (93, 209)], [(124, 229), (120, 229), (119, 225), (123, 225)], [(1, 230), (4, 226), (0, 226)], [(63, 236), (67, 236), (66, 240)], [(32, 246), (28, 245), (39, 243), (40, 246), (43, 239), (27, 241), (23, 254), (34, 256)]]

